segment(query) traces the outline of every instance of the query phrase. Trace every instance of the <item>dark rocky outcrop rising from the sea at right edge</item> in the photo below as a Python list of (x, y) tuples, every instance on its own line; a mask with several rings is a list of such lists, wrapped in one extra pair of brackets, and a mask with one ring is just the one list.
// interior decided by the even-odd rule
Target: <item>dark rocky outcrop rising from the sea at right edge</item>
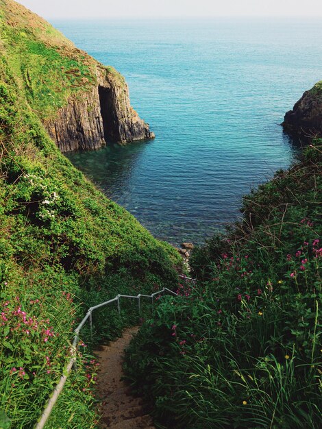
[(286, 113), (282, 123), (285, 130), (314, 136), (322, 133), (322, 81), (306, 91)]

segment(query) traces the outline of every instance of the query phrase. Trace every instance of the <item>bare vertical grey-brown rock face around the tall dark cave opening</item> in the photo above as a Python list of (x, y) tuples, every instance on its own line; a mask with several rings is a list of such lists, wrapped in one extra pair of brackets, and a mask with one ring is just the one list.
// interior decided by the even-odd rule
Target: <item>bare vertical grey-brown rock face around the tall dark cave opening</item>
[(54, 118), (45, 121), (45, 127), (62, 152), (154, 138), (131, 107), (121, 75), (101, 64), (97, 64), (97, 85), (73, 95)]

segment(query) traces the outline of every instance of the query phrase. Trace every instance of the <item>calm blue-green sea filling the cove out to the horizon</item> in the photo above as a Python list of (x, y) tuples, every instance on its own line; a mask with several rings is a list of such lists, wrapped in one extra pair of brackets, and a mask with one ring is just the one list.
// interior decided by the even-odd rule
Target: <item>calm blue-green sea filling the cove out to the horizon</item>
[(321, 19), (54, 21), (127, 79), (156, 139), (69, 154), (156, 237), (202, 243), (293, 162), (280, 123), (322, 78)]

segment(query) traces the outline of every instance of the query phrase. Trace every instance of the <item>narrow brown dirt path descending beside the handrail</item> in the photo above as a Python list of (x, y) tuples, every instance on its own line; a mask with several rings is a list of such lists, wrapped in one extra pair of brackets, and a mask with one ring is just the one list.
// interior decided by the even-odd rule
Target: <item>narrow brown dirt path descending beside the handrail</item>
[(97, 390), (102, 405), (101, 428), (113, 429), (155, 429), (153, 421), (143, 410), (142, 400), (131, 394), (123, 376), (123, 352), (129, 345), (138, 328), (129, 328), (122, 338), (103, 345), (96, 354), (99, 356)]

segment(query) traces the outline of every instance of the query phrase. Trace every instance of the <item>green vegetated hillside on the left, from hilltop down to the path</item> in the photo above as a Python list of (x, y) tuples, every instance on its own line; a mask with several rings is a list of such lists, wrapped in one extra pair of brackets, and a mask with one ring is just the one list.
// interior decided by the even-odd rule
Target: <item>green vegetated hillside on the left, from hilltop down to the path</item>
[[(95, 82), (94, 60), (13, 1), (0, 0), (0, 19), (0, 426), (8, 417), (32, 428), (85, 308), (171, 286), (179, 256), (97, 191), (42, 127)], [(113, 336), (127, 322), (101, 329)], [(69, 380), (49, 428), (95, 426), (95, 364), (84, 351), (88, 366)]]

